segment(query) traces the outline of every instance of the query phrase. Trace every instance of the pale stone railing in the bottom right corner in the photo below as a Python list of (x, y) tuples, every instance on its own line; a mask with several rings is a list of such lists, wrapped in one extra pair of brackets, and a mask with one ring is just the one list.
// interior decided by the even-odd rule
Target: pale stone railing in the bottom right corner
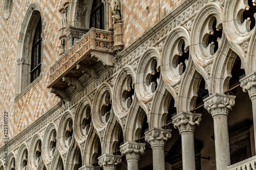
[(227, 167), (228, 170), (256, 170), (256, 156), (232, 164)]

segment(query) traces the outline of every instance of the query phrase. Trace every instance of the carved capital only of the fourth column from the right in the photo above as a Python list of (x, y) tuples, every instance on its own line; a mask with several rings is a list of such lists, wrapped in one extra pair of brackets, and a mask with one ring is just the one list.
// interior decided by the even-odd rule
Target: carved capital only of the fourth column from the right
[(165, 142), (172, 137), (170, 129), (153, 128), (145, 133), (145, 140), (151, 144), (152, 148), (162, 145), (164, 147)]

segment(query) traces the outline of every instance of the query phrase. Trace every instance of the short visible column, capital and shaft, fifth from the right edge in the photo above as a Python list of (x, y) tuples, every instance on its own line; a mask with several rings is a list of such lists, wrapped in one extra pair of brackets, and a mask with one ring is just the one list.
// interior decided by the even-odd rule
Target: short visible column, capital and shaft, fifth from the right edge
[(140, 154), (145, 151), (145, 143), (126, 142), (120, 146), (120, 152), (126, 156), (127, 170), (139, 170)]

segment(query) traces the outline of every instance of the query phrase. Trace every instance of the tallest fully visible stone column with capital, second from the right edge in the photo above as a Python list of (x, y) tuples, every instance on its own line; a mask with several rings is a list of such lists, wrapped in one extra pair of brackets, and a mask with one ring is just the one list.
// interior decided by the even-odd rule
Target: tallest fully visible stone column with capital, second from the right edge
[(214, 118), (214, 135), (217, 170), (230, 165), (227, 117), (236, 96), (215, 93), (204, 100), (204, 108)]

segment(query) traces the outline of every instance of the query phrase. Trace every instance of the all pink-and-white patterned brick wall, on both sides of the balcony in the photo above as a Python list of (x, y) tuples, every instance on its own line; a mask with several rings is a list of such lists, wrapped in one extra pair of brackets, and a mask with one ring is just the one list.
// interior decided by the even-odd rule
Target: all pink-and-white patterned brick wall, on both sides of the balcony
[[(184, 1), (184, 0), (182, 0)], [(129, 46), (145, 31), (152, 28), (159, 20), (172, 11), (180, 1), (165, 0), (123, 0), (124, 44)], [(58, 9), (62, 0), (17, 0), (13, 1), (10, 17), (4, 19), (4, 3), (0, 1), (0, 127), (4, 125), (4, 111), (9, 112), (9, 137), (17, 135), (38, 117), (53, 107), (59, 99), (47, 89), (49, 67), (58, 58), (56, 53), (59, 43), (59, 23), (61, 14)], [(42, 41), (42, 79), (16, 103), (15, 71), (19, 32), (22, 21), (30, 4), (37, 4), (41, 9), (43, 22)], [(148, 6), (148, 10), (145, 9)], [(1, 134), (2, 135), (2, 134)], [(3, 138), (0, 137), (0, 145)]]

